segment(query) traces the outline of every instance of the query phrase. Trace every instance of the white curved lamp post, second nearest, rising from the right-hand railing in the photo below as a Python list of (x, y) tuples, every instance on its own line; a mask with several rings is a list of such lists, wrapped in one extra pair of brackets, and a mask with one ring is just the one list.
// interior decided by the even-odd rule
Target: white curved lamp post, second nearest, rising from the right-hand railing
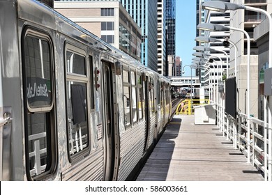
[[(217, 2), (217, 1), (209, 1), (209, 2)], [(222, 2), (222, 1), (219, 1)], [(206, 3), (206, 2), (205, 2)], [(221, 3), (220, 3), (221, 4)], [(199, 24), (197, 25), (198, 29), (206, 30), (206, 31), (227, 31), (229, 29), (232, 29), (234, 31), (241, 31), (245, 34), (247, 38), (247, 58), (248, 58), (248, 64), (247, 64), (247, 69), (248, 69), (248, 74), (247, 74), (247, 91), (248, 91), (248, 98), (247, 98), (247, 146), (248, 149), (250, 148), (250, 36), (248, 35), (248, 32), (246, 32), (243, 29), (237, 29), (234, 27), (227, 27), (227, 26), (222, 26), (218, 24)], [(250, 163), (250, 150), (248, 150), (248, 163)]]

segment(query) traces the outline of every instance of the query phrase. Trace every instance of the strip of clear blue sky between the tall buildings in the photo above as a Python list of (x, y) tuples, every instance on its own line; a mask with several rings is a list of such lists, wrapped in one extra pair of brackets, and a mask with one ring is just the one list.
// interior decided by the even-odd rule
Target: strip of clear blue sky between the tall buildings
[[(196, 1), (176, 0), (176, 56), (180, 56), (182, 65), (191, 65), (192, 48), (195, 47), (196, 36)], [(183, 76), (190, 76), (190, 67), (184, 68)], [(192, 69), (192, 75), (195, 70)]]

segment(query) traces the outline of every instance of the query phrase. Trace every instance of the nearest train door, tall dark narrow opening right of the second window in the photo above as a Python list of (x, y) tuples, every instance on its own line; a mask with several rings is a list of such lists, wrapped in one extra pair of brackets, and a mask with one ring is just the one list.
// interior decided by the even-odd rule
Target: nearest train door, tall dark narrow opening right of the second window
[(116, 180), (118, 172), (119, 132), (116, 125), (116, 89), (114, 66), (103, 61), (105, 114), (105, 180)]

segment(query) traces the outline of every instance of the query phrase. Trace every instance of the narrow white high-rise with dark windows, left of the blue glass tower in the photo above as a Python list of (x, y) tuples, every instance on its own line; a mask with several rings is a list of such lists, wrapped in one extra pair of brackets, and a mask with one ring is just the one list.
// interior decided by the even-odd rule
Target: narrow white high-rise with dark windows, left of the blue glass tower
[(166, 0), (158, 0), (158, 73), (166, 75)]

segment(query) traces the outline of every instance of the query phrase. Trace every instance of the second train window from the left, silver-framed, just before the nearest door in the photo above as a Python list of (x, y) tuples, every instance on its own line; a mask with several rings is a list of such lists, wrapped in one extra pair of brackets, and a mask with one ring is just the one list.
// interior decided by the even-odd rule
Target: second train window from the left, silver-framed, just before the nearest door
[(66, 109), (68, 124), (68, 151), (70, 160), (89, 149), (87, 121), (86, 53), (83, 49), (66, 45)]

